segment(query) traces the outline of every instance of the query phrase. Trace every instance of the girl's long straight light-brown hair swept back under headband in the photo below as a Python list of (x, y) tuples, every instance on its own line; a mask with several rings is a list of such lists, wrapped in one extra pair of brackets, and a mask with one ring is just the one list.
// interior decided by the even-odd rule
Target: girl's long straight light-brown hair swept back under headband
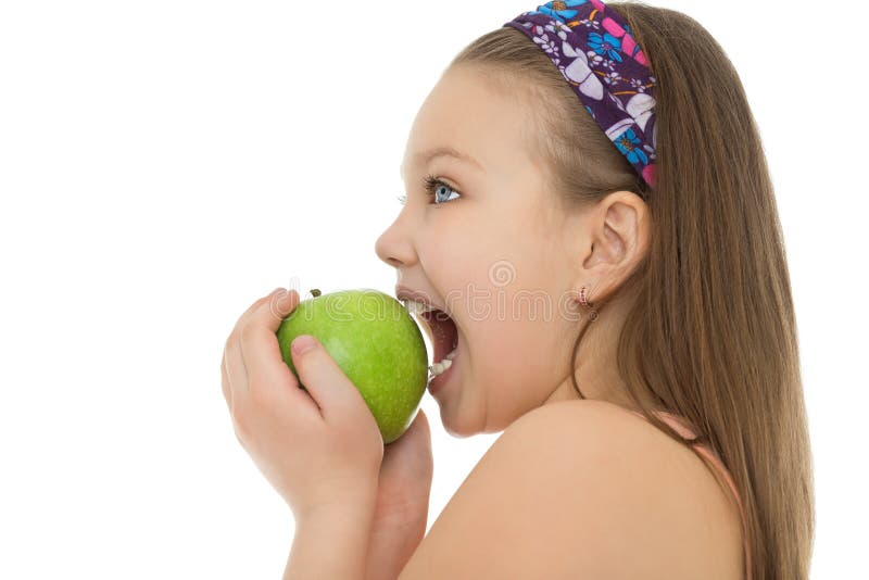
[[(646, 200), (652, 241), (621, 286), (637, 298), (619, 338), (619, 374), (653, 425), (697, 453), (639, 392), (693, 424), (693, 442), (729, 469), (745, 510), (752, 577), (807, 579), (813, 459), (790, 275), (757, 126), (732, 63), (696, 21), (635, 2), (607, 7), (628, 22), (657, 79), (654, 192), (521, 33), (492, 30), (450, 67), (474, 66), (505, 94), (527, 99), (541, 127), (527, 136), (529, 151), (564, 207), (618, 190)], [(610, 301), (594, 302), (599, 316)], [(570, 368), (588, 328), (578, 332)], [(576, 377), (574, 387), (584, 399)]]

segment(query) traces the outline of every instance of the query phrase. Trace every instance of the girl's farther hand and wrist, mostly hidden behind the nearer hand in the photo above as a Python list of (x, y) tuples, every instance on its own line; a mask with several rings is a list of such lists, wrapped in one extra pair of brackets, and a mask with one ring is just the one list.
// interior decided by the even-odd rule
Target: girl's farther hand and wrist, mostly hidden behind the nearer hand
[(383, 451), (366, 580), (398, 578), (419, 546), (426, 535), (433, 470), (431, 431), (420, 408), (407, 431)]

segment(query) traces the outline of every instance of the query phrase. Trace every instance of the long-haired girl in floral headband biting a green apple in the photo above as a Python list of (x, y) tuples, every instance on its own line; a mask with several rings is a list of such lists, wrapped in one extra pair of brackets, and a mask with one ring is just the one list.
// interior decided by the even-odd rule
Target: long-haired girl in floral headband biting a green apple
[(600, 0), (522, 13), (452, 61), (402, 176), (376, 251), (398, 298), (440, 313), (441, 420), (504, 433), (424, 538), (425, 415), (383, 449), (316, 340), (293, 351), (310, 394), (289, 388), (274, 332), (298, 292), (255, 302), (224, 394), (295, 515), (287, 578), (808, 578), (776, 200), (739, 76), (700, 24)]

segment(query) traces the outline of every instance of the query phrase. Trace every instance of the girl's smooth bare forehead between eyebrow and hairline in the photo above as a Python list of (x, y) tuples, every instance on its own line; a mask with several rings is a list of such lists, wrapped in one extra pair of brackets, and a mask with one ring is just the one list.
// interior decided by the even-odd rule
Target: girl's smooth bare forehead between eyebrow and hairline
[(469, 70), (450, 70), (428, 94), (411, 127), (402, 177), (436, 157), (490, 171), (525, 156), (525, 112), (515, 99)]

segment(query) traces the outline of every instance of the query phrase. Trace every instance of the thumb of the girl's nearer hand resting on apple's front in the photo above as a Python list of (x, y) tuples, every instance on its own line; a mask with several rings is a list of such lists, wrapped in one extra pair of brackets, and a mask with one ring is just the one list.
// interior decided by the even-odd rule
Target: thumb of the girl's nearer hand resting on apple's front
[[(306, 350), (300, 351), (306, 338), (312, 342)], [(292, 341), (290, 351), (300, 381), (319, 406), (327, 423), (338, 425), (332, 421), (356, 416), (363, 411), (362, 407), (370, 414), (362, 393), (316, 338), (301, 335)]]

